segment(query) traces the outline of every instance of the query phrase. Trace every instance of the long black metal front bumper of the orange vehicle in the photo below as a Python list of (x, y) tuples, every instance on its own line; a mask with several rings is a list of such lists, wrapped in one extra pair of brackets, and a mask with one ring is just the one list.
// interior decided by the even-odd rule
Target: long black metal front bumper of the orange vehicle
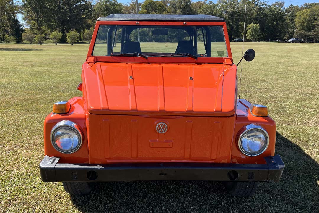
[(131, 163), (59, 164), (59, 158), (45, 156), (40, 163), (41, 179), (57, 181), (211, 180), (278, 182), (285, 164), (276, 155), (266, 164)]

